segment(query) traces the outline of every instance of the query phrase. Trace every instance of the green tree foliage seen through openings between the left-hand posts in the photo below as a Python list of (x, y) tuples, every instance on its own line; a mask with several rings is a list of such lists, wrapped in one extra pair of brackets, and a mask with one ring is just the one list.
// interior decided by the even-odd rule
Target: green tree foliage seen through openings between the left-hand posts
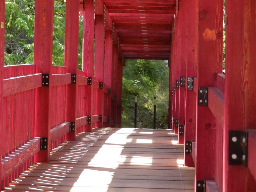
[[(33, 63), (35, 0), (5, 1), (5, 65)], [(52, 65), (63, 66), (66, 3), (54, 1)], [(83, 22), (80, 17), (78, 69), (82, 64)]]

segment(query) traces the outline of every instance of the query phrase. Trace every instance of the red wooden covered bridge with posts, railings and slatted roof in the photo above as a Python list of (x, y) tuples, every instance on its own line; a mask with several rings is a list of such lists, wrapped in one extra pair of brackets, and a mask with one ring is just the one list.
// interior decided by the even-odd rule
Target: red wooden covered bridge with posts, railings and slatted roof
[[(71, 150), (68, 148), (70, 142), (79, 145), (76, 149), (85, 150), (90, 146), (86, 147), (84, 138), (93, 134), (94, 150), (101, 146), (102, 140), (96, 139), (100, 137), (99, 130), (121, 127), (125, 60), (164, 59), (169, 61), (170, 69), (170, 130), (165, 130), (169, 131), (165, 136), (165, 147), (158, 141), (156, 148), (162, 153), (168, 152), (168, 146), (172, 148), (171, 141), (175, 142), (173, 137), (178, 137), (178, 146), (184, 147), (177, 159), (184, 151), (184, 165), (194, 174), (193, 180), (192, 175), (184, 176), (183, 187), (175, 190), (256, 190), (255, 1), (226, 0), (225, 75), (222, 74), (223, 0), (66, 0), (64, 66), (52, 66), (53, 8), (53, 0), (35, 0), (34, 64), (3, 66), (5, 1), (0, 0), (1, 189), (54, 191), (47, 187), (15, 189), (13, 186), (17, 181), (21, 183), (19, 176), (24, 176), (27, 169), (31, 175), (21, 186), (34, 186), (37, 178), (31, 169), (38, 167), (35, 171), (38, 173), (38, 169), (45, 166), (40, 166), (39, 162), (48, 163), (50, 156), (51, 160), (60, 161), (57, 160), (61, 156), (58, 149), (66, 145), (65, 150)], [(84, 17), (83, 63), (82, 70), (77, 70), (80, 16)], [(161, 131), (152, 131), (152, 135), (157, 136)], [(176, 133), (176, 136), (170, 133)], [(122, 139), (122, 134), (119, 136)], [(146, 140), (153, 142), (148, 137)], [(127, 148), (142, 148), (129, 146)], [(107, 149), (98, 150), (106, 150), (106, 158), (116, 150)], [(130, 155), (140, 156), (137, 152), (134, 150)], [(89, 166), (90, 158), (81, 154), (71, 156), (73, 160), (79, 156), (80, 164), (84, 162), (82, 164)], [(166, 162), (173, 166), (173, 154), (168, 155), (161, 161), (152, 160), (152, 163)], [(150, 157), (154, 159), (155, 155)], [(142, 159), (146, 164), (148, 159)], [(45, 168), (56, 172), (59, 164), (54, 165), (52, 161), (48, 164), (51, 168)], [(155, 169), (155, 166), (161, 166), (165, 171)], [(152, 180), (158, 180), (159, 185), (172, 181), (172, 187), (176, 186), (180, 181), (169, 176), (174, 176), (177, 168), (168, 166), (154, 164), (153, 174), (145, 172), (149, 177), (140, 177), (140, 180), (150, 181), (150, 176), (160, 176)], [(66, 174), (68, 169), (65, 167), (62, 171)], [(79, 166), (72, 168), (73, 173), (78, 174), (78, 169)], [(105, 177), (95, 177), (90, 170), (85, 173), (87, 177), (82, 177), (84, 181), (108, 179), (109, 174), (104, 170), (93, 169), (104, 172)], [(69, 187), (65, 190), (75, 190), (70, 188), (70, 183), (76, 182), (73, 176), (67, 178), (65, 182)], [(122, 176), (115, 178), (116, 182), (109, 188), (104, 185), (104, 191), (115, 191), (110, 188), (118, 187), (120, 178), (124, 179)], [(49, 179), (48, 187), (51, 181), (56, 178)], [(42, 183), (45, 184), (45, 180), (40, 185)], [(145, 183), (136, 186), (140, 191), (164, 191), (163, 187), (150, 188), (151, 182)], [(134, 183), (129, 187), (135, 187)], [(166, 185), (165, 189), (172, 191), (172, 187)]]

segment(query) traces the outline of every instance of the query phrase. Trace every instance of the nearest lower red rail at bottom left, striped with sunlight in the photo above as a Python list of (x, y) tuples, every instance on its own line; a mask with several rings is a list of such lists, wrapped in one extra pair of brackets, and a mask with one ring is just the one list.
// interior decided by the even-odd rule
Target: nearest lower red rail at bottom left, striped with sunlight
[(35, 137), (10, 155), (2, 159), (2, 179), (13, 173), (21, 165), (40, 151), (41, 138)]

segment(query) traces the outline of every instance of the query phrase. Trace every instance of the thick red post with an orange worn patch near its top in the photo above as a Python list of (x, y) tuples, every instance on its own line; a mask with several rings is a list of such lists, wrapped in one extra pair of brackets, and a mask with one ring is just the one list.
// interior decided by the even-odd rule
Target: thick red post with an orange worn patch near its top
[[(198, 87), (215, 87), (217, 74), (222, 72), (223, 0), (198, 0), (198, 6)], [(198, 90), (195, 91), (197, 93), (195, 181), (215, 179), (216, 119), (207, 105), (199, 105), (202, 102), (198, 101)]]

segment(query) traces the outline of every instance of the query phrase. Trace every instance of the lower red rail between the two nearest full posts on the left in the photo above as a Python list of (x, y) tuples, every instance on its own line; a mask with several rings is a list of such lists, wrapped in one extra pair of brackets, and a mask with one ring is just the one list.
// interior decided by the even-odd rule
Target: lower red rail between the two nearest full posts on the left
[(61, 125), (53, 128), (50, 131), (50, 143), (58, 140), (69, 132), (69, 122), (62, 123)]

